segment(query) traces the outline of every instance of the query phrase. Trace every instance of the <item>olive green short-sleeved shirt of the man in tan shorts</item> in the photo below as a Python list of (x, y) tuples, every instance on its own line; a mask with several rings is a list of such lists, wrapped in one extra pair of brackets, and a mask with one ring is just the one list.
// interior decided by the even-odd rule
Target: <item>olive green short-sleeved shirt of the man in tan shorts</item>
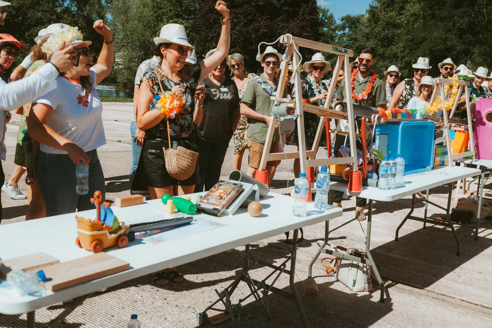
[[(265, 78), (265, 75), (260, 75), (261, 80), (263, 80), (265, 85), (269, 85)], [(278, 80), (274, 81), (275, 87), (274, 91), (277, 90)], [(256, 79), (253, 79), (247, 83), (245, 93), (243, 95), (242, 102), (247, 102), (249, 108), (253, 111), (270, 117), (272, 115), (272, 107), (274, 101), (270, 99), (270, 95), (263, 90), (261, 84), (259, 84)], [(248, 128), (247, 136), (251, 138), (252, 141), (264, 144), (267, 139), (268, 125), (265, 121), (259, 119), (247, 118)], [(274, 132), (274, 141), (280, 140), (280, 134), (278, 133), (278, 128)]]

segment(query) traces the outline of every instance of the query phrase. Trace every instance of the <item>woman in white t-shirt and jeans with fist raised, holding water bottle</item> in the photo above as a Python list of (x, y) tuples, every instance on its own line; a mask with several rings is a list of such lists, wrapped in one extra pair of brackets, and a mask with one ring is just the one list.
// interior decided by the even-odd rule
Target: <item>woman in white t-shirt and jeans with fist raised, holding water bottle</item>
[[(73, 68), (58, 76), (50, 89), (32, 102), (28, 120), (29, 134), (41, 143), (35, 175), (48, 216), (93, 209), (90, 199), (96, 190), (101, 191), (102, 199), (105, 197), (104, 175), (96, 149), (106, 143), (106, 138), (96, 85), (111, 72), (114, 48), (113, 34), (102, 20), (95, 21), (93, 28), (104, 36), (101, 53), (93, 66), (88, 48), (92, 42), (83, 41), (76, 28), (53, 34), (50, 39), (54, 39), (48, 39), (43, 48), (50, 54), (50, 45), (65, 41), (76, 51)], [(86, 195), (75, 191), (75, 167), (80, 163), (89, 164)]]

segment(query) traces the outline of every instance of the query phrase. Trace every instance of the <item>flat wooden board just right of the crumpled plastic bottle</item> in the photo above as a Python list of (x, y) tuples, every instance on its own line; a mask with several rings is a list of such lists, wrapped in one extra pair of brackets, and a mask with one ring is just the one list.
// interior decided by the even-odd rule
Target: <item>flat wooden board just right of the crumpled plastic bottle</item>
[(83, 282), (125, 271), (130, 264), (104, 252), (43, 267), (45, 288), (56, 292)]

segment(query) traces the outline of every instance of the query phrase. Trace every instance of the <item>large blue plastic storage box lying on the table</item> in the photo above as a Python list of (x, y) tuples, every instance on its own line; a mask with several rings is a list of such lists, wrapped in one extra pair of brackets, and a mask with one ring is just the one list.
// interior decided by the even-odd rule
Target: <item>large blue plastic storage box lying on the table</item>
[(430, 121), (390, 122), (376, 125), (376, 149), (383, 156), (403, 155), (404, 176), (434, 166), (434, 123)]

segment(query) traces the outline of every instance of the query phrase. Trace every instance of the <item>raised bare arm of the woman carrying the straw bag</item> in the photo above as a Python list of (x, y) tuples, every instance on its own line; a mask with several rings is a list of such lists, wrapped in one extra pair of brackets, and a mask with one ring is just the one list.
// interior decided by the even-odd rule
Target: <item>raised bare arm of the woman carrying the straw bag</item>
[[(215, 9), (222, 14), (223, 23), (230, 22), (229, 9), (227, 9), (227, 4), (224, 1), (218, 0), (217, 3), (215, 3)], [(200, 68), (202, 69), (202, 72), (200, 73), (199, 81), (203, 81), (203, 79), (205, 79), (222, 60), (224, 60), (225, 56), (229, 54), (230, 45), (231, 24), (227, 23), (222, 25), (220, 38), (218, 40), (217, 50), (215, 50), (215, 53), (200, 61)]]

